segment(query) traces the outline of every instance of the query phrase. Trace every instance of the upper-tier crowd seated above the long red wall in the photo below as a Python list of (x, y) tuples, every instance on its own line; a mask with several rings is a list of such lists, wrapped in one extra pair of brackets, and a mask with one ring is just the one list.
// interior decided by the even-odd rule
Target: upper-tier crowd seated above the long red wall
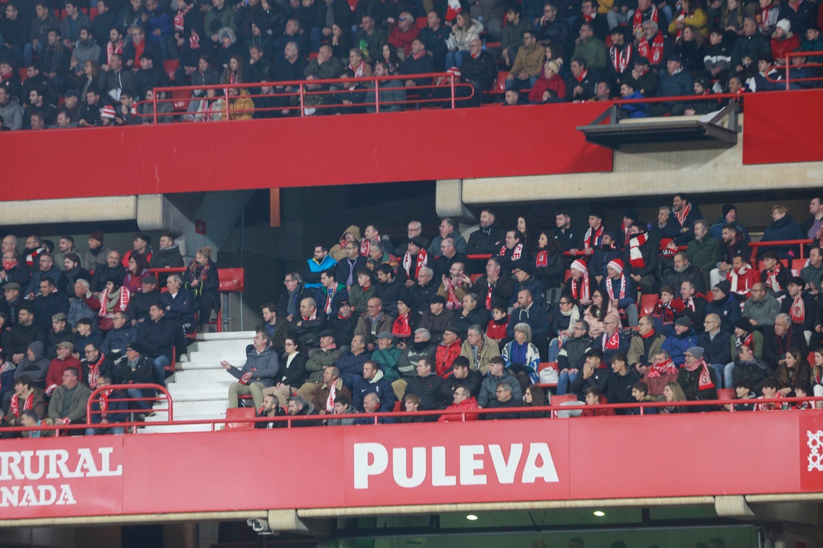
[[(422, 74), (449, 70), (458, 104), (504, 77), (504, 104), (785, 89), (787, 53), (820, 52), (811, 0), (11, 0), (0, 12), (2, 129), (152, 123), (154, 89), (198, 89), (185, 120), (374, 112), (445, 98)], [(88, 13), (88, 15), (86, 15)], [(816, 77), (823, 56), (793, 57)], [(507, 75), (507, 76), (506, 76)], [(315, 79), (342, 79), (311, 84)], [(307, 82), (303, 103), (295, 86)], [(811, 87), (798, 81), (790, 87)], [(473, 88), (473, 93), (472, 93)], [(251, 93), (249, 93), (251, 91)], [(281, 95), (277, 95), (281, 94)], [(491, 95), (494, 97), (495, 95)], [(158, 95), (158, 122), (174, 118)], [(226, 104), (228, 103), (228, 104)], [(412, 103), (413, 104), (413, 103)], [(436, 103), (435, 103), (436, 104)], [(625, 116), (704, 114), (718, 101), (627, 104)], [(151, 114), (151, 115), (150, 115)]]

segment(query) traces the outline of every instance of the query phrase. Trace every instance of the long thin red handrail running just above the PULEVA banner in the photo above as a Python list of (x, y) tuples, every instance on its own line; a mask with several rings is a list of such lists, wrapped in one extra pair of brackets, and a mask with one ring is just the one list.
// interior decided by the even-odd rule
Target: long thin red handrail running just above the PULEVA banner
[[(129, 385), (131, 387), (135, 386), (145, 386), (146, 388), (149, 387), (156, 387), (157, 385)], [(573, 400), (572, 400), (573, 401)], [(487, 415), (491, 413), (495, 414), (509, 414), (509, 413), (534, 413), (534, 412), (546, 412), (551, 413), (551, 418), (557, 418), (557, 411), (580, 411), (584, 409), (589, 410), (598, 410), (598, 409), (640, 409), (639, 416), (645, 416), (644, 408), (647, 407), (723, 407), (724, 406), (732, 406), (730, 412), (735, 412), (734, 406), (739, 404), (745, 405), (759, 405), (759, 404), (770, 404), (770, 403), (777, 403), (777, 404), (794, 404), (794, 403), (801, 403), (801, 402), (823, 402), (823, 397), (773, 397), (773, 398), (751, 398), (751, 399), (728, 399), (728, 400), (686, 400), (683, 402), (629, 402), (629, 403), (602, 403), (597, 405), (588, 405), (582, 402), (577, 403), (576, 405), (548, 405), (548, 406), (520, 406), (520, 407), (509, 407), (509, 408), (486, 408), (486, 409), (470, 409), (465, 411), (455, 411), (455, 410), (448, 410), (448, 409), (438, 409), (432, 411), (382, 411), (376, 413), (356, 413), (356, 415), (301, 415), (301, 416), (254, 416), (254, 417), (223, 417), (223, 418), (215, 418), (215, 419), (197, 419), (197, 420), (157, 420), (152, 421), (152, 426), (175, 426), (175, 425), (212, 425), (212, 431), (216, 430), (216, 425), (225, 425), (226, 423), (258, 423), (258, 422), (285, 422), (286, 428), (293, 428), (294, 425), (292, 424), (294, 421), (315, 421), (320, 422), (323, 420), (328, 419), (351, 419), (351, 418), (367, 418), (367, 419), (374, 419), (374, 425), (387, 425), (385, 423), (380, 423), (379, 419), (381, 418), (398, 418), (404, 416), (412, 416), (412, 417), (420, 417), (420, 416), (449, 416), (457, 418), (460, 417), (461, 422), (467, 422), (466, 416), (467, 415)], [(565, 403), (565, 402), (564, 402)], [(171, 404), (171, 401), (170, 401)], [(816, 408), (807, 409), (807, 410), (799, 410), (796, 407), (792, 407), (786, 410), (774, 410), (774, 411), (823, 411), (817, 410)], [(711, 411), (701, 411), (701, 412), (727, 412), (721, 410), (711, 410)], [(737, 411), (739, 412), (739, 411)], [(626, 415), (620, 415), (620, 417), (625, 417)], [(549, 418), (549, 417), (546, 417)], [(576, 417), (575, 417), (576, 418)], [(135, 421), (128, 421), (128, 422), (121, 422), (121, 423), (108, 423), (109, 425), (106, 428), (113, 428), (118, 426), (123, 427), (132, 427), (132, 426), (140, 426), (145, 425), (143, 422), (135, 422)], [(392, 423), (388, 423), (392, 424)], [(403, 423), (398, 423), (403, 424)], [(26, 432), (31, 430), (79, 430), (79, 429), (86, 429), (89, 425), (42, 425), (42, 426), (9, 426), (0, 428), (0, 433), (2, 432)], [(92, 425), (94, 426), (94, 425)]]

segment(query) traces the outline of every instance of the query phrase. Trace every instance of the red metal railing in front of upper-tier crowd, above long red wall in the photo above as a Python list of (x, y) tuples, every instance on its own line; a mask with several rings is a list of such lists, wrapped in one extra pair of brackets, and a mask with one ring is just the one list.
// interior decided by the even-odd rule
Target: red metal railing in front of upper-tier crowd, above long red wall
[[(408, 80), (420, 80), (420, 79), (431, 79), (431, 84), (425, 84), (420, 86), (406, 86), (405, 82)], [(443, 84), (436, 84), (436, 81), (444, 81)], [(402, 81), (403, 85), (401, 87), (392, 87), (392, 88), (385, 88), (379, 86), (379, 83), (385, 83), (387, 81)], [(355, 90), (348, 89), (347, 86), (351, 86), (352, 84), (370, 84), (370, 87), (367, 88), (357, 88)], [(339, 89), (309, 89), (309, 87), (314, 88), (314, 86), (339, 86)], [(243, 91), (248, 91), (250, 89), (260, 89), (263, 87), (272, 87), (272, 93), (257, 93), (257, 94), (249, 94), (246, 95), (238, 95), (242, 97), (247, 97), (249, 99), (255, 98), (283, 98), (288, 100), (288, 102), (284, 101), (284, 104), (279, 106), (273, 107), (263, 107), (254, 109), (235, 109), (230, 106), (231, 100), (233, 97), (229, 95), (229, 90), (231, 89), (238, 89)], [(280, 88), (283, 88), (283, 91), (278, 91)], [(463, 96), (457, 95), (457, 90), (463, 88), (467, 90), (467, 94)], [(157, 87), (154, 88), (155, 95), (153, 100), (151, 101), (141, 101), (137, 103), (139, 107), (142, 104), (152, 104), (152, 112), (151, 114), (138, 114), (138, 116), (151, 116), (154, 119), (154, 122), (157, 122), (158, 112), (157, 112), (157, 105), (160, 103), (177, 103), (184, 101), (187, 105), (191, 103), (191, 101), (200, 101), (206, 100), (207, 97), (185, 97), (185, 98), (174, 98), (172, 95), (174, 93), (179, 92), (193, 92), (193, 91), (207, 91), (207, 90), (215, 90), (216, 97), (215, 99), (224, 100), (223, 110), (221, 114), (226, 116), (226, 119), (230, 117), (232, 113), (253, 113), (253, 112), (277, 112), (277, 111), (291, 111), (291, 110), (300, 110), (300, 116), (305, 117), (305, 108), (313, 108), (313, 109), (340, 109), (340, 108), (353, 108), (353, 107), (370, 107), (373, 106), (376, 112), (380, 112), (380, 108), (385, 108), (386, 105), (394, 105), (394, 104), (427, 104), (427, 103), (436, 103), (436, 104), (444, 104), (449, 103), (451, 108), (455, 108), (455, 105), (458, 101), (469, 100), (472, 95), (474, 95), (474, 88), (467, 83), (460, 83), (459, 81), (455, 81), (455, 77), (451, 72), (430, 72), (425, 74), (402, 74), (402, 75), (393, 75), (393, 76), (384, 76), (384, 77), (358, 77), (358, 78), (334, 78), (334, 79), (315, 79), (315, 80), (290, 80), (290, 81), (267, 81), (267, 82), (249, 82), (244, 84), (220, 84), (214, 86), (173, 86), (173, 87)], [(406, 100), (380, 100), (380, 94), (384, 94), (387, 92), (392, 91), (399, 91), (403, 90), (406, 91), (408, 95), (418, 95), (414, 98), (409, 99), (407, 97)], [(420, 91), (425, 90), (448, 90), (448, 96), (444, 97), (436, 97), (436, 98), (423, 98), (419, 96)], [(168, 98), (160, 99), (158, 95), (162, 92), (165, 92), (169, 95)], [(350, 103), (350, 104), (307, 104), (306, 99), (308, 97), (323, 97), (324, 95), (334, 95), (334, 96), (353, 96), (355, 94), (365, 94), (369, 92), (374, 92), (374, 102), (358, 102), (358, 103)], [(297, 99), (298, 104), (291, 104), (291, 99)], [(178, 113), (180, 114), (180, 113)], [(192, 113), (197, 114), (197, 113)], [(161, 116), (170, 116), (172, 114), (160, 114)]]

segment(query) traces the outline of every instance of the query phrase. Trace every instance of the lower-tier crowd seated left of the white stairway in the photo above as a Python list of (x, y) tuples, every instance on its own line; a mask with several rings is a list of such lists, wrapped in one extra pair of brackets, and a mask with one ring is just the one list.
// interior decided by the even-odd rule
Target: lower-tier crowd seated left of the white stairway
[[(35, 424), (85, 424), (95, 388), (165, 385), (165, 368), (186, 355), (187, 334), (208, 332), (212, 311), (220, 309), (211, 256), (211, 248), (201, 248), (184, 265), (170, 234), (160, 235), (154, 250), (151, 235), (138, 232), (125, 253), (106, 247), (100, 230), (89, 235), (85, 253), (72, 236), (55, 247), (30, 235), (19, 249), (16, 237), (7, 235), (0, 270), (2, 425), (27, 425), (26, 411), (35, 413)], [(185, 270), (158, 280), (150, 268)], [(92, 417), (95, 423), (123, 421), (125, 403), (106, 404), (119, 399), (111, 392), (95, 402), (104, 411)], [(127, 392), (144, 396), (140, 389)], [(149, 412), (147, 402), (134, 406)]]

